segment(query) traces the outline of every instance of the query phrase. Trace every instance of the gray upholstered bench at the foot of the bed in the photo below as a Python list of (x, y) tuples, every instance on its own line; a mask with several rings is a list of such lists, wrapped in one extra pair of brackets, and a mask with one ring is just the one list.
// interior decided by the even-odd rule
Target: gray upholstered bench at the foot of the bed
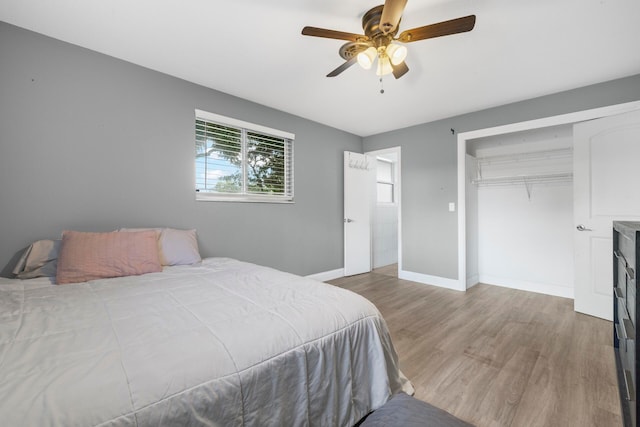
[(371, 413), (359, 427), (473, 427), (442, 409), (399, 393)]

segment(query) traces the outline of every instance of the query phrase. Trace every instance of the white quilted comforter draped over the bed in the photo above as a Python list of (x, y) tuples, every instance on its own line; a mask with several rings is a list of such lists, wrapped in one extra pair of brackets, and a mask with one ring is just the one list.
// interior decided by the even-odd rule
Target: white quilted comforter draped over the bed
[(370, 302), (273, 269), (0, 279), (3, 426), (350, 426), (410, 387)]

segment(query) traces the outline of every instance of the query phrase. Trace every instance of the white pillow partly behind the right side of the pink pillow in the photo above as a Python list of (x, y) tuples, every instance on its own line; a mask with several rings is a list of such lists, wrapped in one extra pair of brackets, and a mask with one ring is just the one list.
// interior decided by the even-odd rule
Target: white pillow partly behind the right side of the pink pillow
[(119, 231), (156, 230), (158, 250), (162, 265), (195, 264), (202, 261), (198, 249), (196, 230), (178, 230), (175, 228), (121, 228)]

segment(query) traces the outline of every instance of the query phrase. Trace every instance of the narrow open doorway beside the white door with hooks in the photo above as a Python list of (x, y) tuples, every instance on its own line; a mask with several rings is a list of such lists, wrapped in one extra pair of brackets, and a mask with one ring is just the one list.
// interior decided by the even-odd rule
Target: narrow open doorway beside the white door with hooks
[(400, 147), (365, 153), (375, 159), (371, 203), (371, 261), (375, 272), (398, 277), (401, 270)]

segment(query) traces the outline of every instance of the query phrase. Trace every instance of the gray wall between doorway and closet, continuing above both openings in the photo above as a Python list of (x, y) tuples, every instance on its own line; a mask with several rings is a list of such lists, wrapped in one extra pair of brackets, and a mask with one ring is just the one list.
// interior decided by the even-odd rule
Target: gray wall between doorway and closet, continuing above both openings
[(448, 203), (458, 200), (451, 129), (467, 132), (637, 100), (640, 74), (364, 138), (365, 151), (402, 147), (403, 269), (458, 278), (457, 212), (448, 211)]

